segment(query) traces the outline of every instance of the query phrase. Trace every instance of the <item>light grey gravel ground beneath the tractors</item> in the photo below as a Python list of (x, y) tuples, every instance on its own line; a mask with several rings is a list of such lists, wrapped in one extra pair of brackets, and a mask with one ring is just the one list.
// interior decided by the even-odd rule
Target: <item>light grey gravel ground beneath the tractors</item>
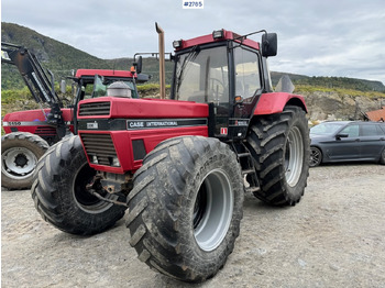
[(246, 196), (241, 234), (212, 279), (187, 285), (136, 259), (124, 219), (102, 234), (61, 232), (29, 190), (1, 191), (2, 287), (385, 287), (385, 166), (310, 169), (302, 200)]

